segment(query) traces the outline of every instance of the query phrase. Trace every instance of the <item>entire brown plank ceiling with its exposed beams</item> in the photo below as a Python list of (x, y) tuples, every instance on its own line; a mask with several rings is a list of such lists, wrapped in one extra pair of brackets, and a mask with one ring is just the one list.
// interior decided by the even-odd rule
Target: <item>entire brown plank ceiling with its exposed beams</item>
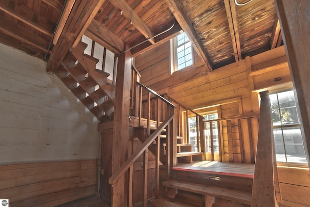
[(83, 34), (139, 54), (182, 29), (210, 71), (283, 44), (274, 0), (0, 0), (0, 42), (51, 72)]

